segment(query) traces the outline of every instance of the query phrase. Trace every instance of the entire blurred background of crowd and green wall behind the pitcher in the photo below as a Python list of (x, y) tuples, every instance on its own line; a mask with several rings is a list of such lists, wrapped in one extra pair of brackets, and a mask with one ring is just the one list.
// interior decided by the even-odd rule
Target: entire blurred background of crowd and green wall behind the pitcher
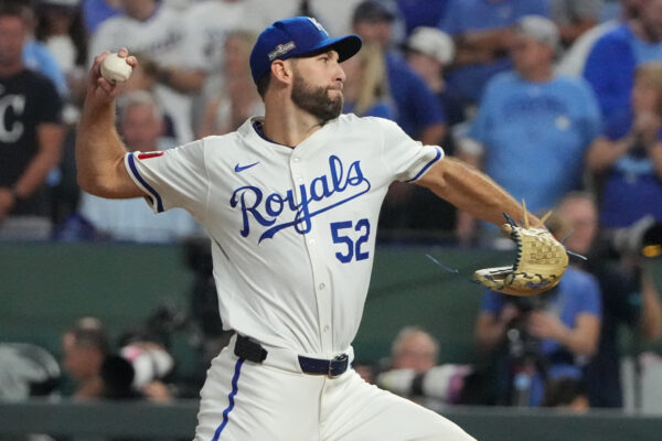
[(662, 0), (0, 1), (0, 439), (191, 437), (231, 337), (209, 239), (184, 211), (78, 189), (86, 73), (139, 58), (117, 103), (132, 151), (227, 133), (264, 112), (257, 34), (296, 14), (363, 39), (345, 112), (553, 209), (588, 257), (543, 295), (485, 292), (471, 275), (511, 265), (510, 240), (394, 183), (354, 368), (481, 440), (656, 440)]

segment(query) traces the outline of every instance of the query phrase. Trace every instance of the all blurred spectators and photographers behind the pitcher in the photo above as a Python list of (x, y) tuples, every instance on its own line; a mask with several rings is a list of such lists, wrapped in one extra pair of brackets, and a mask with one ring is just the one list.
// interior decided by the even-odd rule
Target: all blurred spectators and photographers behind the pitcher
[[(618, 330), (650, 341), (662, 326), (647, 265), (662, 251), (662, 0), (3, 0), (0, 240), (199, 237), (184, 212), (79, 191), (86, 72), (103, 51), (138, 57), (117, 103), (132, 151), (228, 133), (264, 111), (248, 66), (257, 33), (297, 14), (363, 39), (343, 64), (345, 112), (393, 119), (532, 212), (554, 209), (549, 228), (588, 257), (533, 300), (484, 294), (476, 335), (496, 373), (489, 394), (476, 394), (482, 367), (436, 365), (438, 344), (415, 327), (388, 366), (361, 367), (365, 378), (449, 404), (622, 407)], [(380, 226), (381, 241), (503, 246), (496, 228), (416, 185), (392, 185)], [(63, 337), (75, 396), (177, 396), (159, 383), (172, 365), (159, 342), (109, 357), (100, 330), (89, 319)], [(406, 342), (427, 362), (407, 358), (418, 349)], [(162, 372), (141, 379), (140, 357)]]

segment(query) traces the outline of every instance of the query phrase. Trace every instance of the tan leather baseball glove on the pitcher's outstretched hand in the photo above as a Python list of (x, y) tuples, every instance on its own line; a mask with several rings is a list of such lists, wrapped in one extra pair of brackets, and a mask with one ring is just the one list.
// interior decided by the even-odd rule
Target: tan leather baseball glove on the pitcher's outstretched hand
[(515, 263), (479, 269), (473, 278), (491, 290), (511, 295), (533, 295), (556, 287), (568, 266), (563, 244), (544, 228), (531, 228), (526, 213), (524, 226), (505, 217), (508, 224), (502, 225), (501, 232), (517, 246)]

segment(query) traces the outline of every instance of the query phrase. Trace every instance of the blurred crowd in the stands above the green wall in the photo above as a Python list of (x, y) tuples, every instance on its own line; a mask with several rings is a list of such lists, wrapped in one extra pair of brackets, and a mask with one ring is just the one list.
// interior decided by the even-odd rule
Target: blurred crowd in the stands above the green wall
[[(126, 46), (140, 64), (117, 130), (150, 152), (260, 115), (247, 63), (257, 33), (309, 14), (356, 33), (345, 112), (389, 118), (483, 170), (533, 212), (585, 190), (600, 227), (662, 218), (662, 4), (656, 0), (3, 0), (0, 239), (169, 243), (185, 213), (103, 201), (76, 185), (86, 72)], [(13, 11), (13, 12), (12, 12)], [(11, 17), (13, 14), (13, 18)], [(499, 246), (496, 230), (394, 183), (378, 240)]]

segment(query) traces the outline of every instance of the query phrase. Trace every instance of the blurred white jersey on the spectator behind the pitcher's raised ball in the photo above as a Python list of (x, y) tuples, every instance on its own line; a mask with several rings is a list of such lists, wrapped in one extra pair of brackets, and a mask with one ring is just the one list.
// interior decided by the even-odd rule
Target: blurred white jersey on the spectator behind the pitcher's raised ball
[[(117, 52), (127, 47), (129, 53), (149, 56), (162, 66), (183, 69), (203, 69), (205, 60), (196, 47), (189, 47), (191, 40), (182, 26), (181, 12), (159, 6), (146, 21), (128, 15), (106, 20), (90, 39), (88, 61), (104, 51)], [(154, 94), (164, 110), (172, 117), (180, 142), (193, 139), (191, 97), (170, 87), (157, 85)]]

